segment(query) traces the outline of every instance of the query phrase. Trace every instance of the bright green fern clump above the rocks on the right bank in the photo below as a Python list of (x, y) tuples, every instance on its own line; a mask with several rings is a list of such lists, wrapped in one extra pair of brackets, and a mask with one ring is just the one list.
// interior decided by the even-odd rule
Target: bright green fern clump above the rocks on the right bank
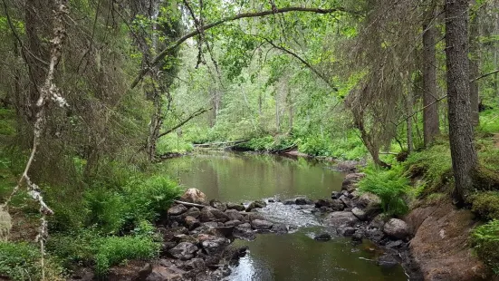
[(404, 197), (409, 191), (409, 180), (403, 175), (402, 167), (391, 170), (367, 169), (367, 177), (359, 182), (360, 191), (379, 196), (383, 211), (388, 215), (401, 216), (408, 212)]

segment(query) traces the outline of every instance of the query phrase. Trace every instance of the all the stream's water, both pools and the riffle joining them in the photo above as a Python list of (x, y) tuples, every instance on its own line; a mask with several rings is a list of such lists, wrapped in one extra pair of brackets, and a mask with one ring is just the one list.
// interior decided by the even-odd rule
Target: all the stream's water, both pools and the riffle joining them
[[(340, 190), (344, 174), (316, 160), (293, 160), (274, 155), (213, 152), (165, 162), (170, 176), (206, 193), (208, 199), (248, 202), (255, 199), (324, 199)], [(376, 265), (382, 251), (369, 241), (353, 244), (321, 226), (310, 209), (282, 203), (261, 209), (264, 217), (295, 229), (286, 235), (262, 234), (254, 241), (236, 240), (249, 253), (226, 280), (408, 280), (401, 266)], [(329, 232), (331, 241), (314, 235)]]

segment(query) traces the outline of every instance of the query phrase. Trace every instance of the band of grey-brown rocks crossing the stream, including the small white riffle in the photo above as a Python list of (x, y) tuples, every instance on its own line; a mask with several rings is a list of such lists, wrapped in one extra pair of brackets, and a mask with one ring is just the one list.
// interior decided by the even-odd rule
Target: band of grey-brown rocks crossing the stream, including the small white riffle
[[(350, 237), (351, 243), (369, 239), (383, 253), (373, 262), (385, 267), (402, 265), (408, 279), (422, 279), (409, 256), (408, 225), (398, 218), (383, 218), (380, 199), (357, 191), (362, 177), (362, 173), (348, 174), (341, 191), (333, 191), (331, 199), (315, 201), (297, 197), (225, 203), (187, 189), (158, 222), (157, 231), (163, 237), (158, 260), (112, 267), (108, 280), (231, 280), (231, 268), (247, 251), (245, 246), (234, 246), (235, 239), (254, 240), (265, 233), (287, 235), (310, 226), (321, 227), (311, 234), (316, 243), (338, 236)], [(90, 271), (83, 271), (72, 280), (92, 277)]]

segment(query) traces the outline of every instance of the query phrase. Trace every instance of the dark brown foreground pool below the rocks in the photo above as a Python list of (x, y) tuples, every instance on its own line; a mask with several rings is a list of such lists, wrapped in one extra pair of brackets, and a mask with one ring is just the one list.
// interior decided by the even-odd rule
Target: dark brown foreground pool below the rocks
[(267, 280), (405, 280), (401, 267), (382, 269), (369, 260), (373, 253), (357, 250), (362, 245), (354, 247), (349, 239), (318, 242), (299, 232), (262, 235), (247, 245), (253, 264), (264, 266), (253, 270), (271, 268), (273, 278)]

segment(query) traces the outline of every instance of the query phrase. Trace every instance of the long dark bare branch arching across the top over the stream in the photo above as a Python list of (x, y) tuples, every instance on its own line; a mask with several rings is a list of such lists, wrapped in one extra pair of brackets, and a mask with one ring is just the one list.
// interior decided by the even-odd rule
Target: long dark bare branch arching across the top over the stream
[(133, 89), (137, 84), (139, 84), (140, 80), (149, 73), (150, 68), (157, 65), (161, 60), (163, 60), (169, 52), (177, 48), (180, 44), (184, 43), (188, 38), (196, 36), (199, 34), (199, 30), (206, 31), (210, 28), (213, 28), (217, 25), (224, 24), (226, 22), (231, 22), (235, 21), (238, 19), (242, 18), (248, 18), (248, 17), (260, 17), (260, 16), (265, 16), (265, 15), (275, 15), (275, 14), (283, 14), (283, 13), (289, 13), (289, 12), (305, 12), (305, 13), (315, 13), (315, 14), (321, 14), (321, 15), (326, 15), (326, 14), (332, 14), (336, 12), (347, 12), (343, 8), (333, 8), (333, 9), (320, 9), (320, 8), (306, 8), (306, 7), (285, 7), (282, 9), (277, 9), (277, 11), (269, 10), (269, 11), (262, 11), (262, 12), (255, 12), (255, 13), (243, 13), (243, 14), (238, 14), (238, 15), (232, 15), (232, 16), (227, 16), (222, 18), (221, 20), (211, 23), (211, 24), (206, 24), (204, 26), (201, 26), (200, 28), (197, 28), (196, 30), (190, 32), (189, 34), (185, 34), (184, 36), (178, 38), (177, 41), (173, 42), (172, 44), (169, 44), (167, 48), (165, 48), (161, 53), (158, 53), (158, 56), (152, 60), (150, 63), (149, 67), (143, 68), (140, 70), (139, 74), (135, 78), (133, 82), (131, 82), (130, 88)]

